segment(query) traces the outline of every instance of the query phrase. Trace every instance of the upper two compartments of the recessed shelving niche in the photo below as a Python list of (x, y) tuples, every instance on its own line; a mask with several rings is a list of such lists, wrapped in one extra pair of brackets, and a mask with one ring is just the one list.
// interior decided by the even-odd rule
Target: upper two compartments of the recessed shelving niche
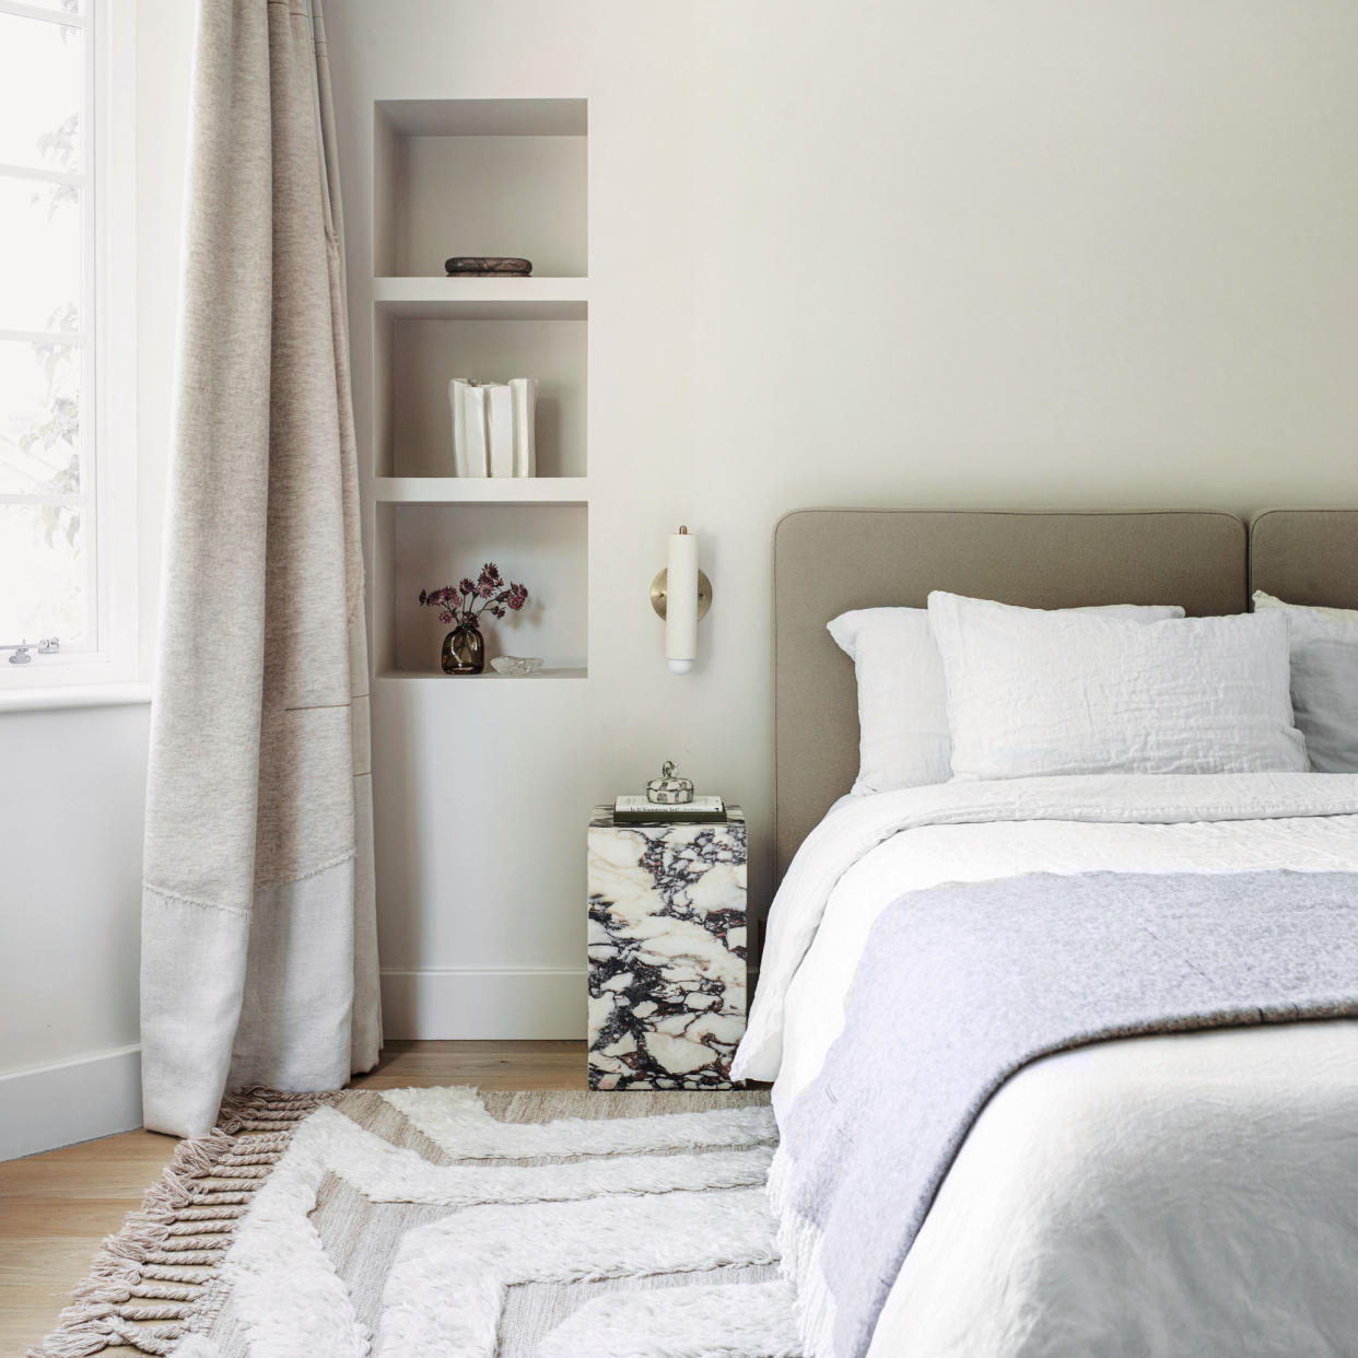
[[(584, 99), (382, 100), (373, 114), (373, 464), (452, 470), (448, 379), (538, 379), (538, 475), (587, 473)], [(449, 255), (530, 278), (448, 278)]]

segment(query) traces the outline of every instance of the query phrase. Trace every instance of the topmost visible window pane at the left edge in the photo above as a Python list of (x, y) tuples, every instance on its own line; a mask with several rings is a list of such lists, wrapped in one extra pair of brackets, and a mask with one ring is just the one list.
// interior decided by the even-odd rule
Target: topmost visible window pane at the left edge
[(80, 29), (0, 14), (0, 162), (79, 171), (83, 81)]

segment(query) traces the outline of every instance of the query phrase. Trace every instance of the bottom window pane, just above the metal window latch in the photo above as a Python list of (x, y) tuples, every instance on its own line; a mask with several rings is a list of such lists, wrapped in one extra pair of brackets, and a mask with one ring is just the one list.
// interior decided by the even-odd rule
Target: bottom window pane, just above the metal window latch
[(0, 505), (0, 638), (60, 637), (80, 645), (88, 630), (83, 511)]

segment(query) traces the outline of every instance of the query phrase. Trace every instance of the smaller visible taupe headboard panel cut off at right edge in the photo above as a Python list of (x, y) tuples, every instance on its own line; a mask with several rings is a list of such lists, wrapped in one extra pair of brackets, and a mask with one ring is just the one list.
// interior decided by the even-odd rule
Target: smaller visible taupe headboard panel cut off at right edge
[(1358, 509), (1264, 509), (1249, 524), (1249, 588), (1358, 608)]

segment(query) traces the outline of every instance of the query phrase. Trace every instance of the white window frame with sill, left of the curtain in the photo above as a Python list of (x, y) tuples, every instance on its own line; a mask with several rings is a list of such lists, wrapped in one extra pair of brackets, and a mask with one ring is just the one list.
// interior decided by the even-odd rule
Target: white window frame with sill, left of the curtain
[[(0, 12), (79, 27), (87, 43), (80, 475), (94, 507), (88, 566), (95, 636), (92, 646), (42, 656), (39, 638), (30, 637), (33, 660), (26, 665), (10, 664), (10, 652), (0, 652), (0, 712), (143, 702), (149, 684), (139, 627), (136, 4), (84, 0), (83, 12), (72, 15), (0, 0)], [(0, 637), (0, 645), (15, 641)]]

